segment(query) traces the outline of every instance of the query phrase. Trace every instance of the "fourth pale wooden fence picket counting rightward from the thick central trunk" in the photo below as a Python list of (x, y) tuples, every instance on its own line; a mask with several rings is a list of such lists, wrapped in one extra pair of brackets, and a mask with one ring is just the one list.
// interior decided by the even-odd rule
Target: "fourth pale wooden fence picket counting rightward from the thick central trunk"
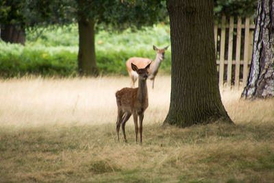
[(238, 90), (240, 84), (240, 39), (242, 36), (242, 17), (238, 16), (236, 38), (236, 63), (235, 63), (235, 87)]

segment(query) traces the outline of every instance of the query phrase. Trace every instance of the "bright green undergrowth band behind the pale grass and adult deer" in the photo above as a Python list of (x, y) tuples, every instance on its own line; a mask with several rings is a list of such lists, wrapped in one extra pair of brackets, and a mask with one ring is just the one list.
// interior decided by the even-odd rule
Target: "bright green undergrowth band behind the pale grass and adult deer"
[[(127, 29), (122, 33), (101, 31), (96, 35), (95, 44), (99, 73), (127, 75), (125, 62), (128, 58), (138, 56), (154, 59), (152, 45), (159, 48), (170, 45), (169, 27), (155, 25), (138, 32)], [(77, 51), (77, 25), (49, 27), (38, 38), (30, 30), (25, 47), (0, 41), (0, 76), (75, 76)], [(165, 57), (160, 69), (163, 73), (170, 73), (170, 49)]]

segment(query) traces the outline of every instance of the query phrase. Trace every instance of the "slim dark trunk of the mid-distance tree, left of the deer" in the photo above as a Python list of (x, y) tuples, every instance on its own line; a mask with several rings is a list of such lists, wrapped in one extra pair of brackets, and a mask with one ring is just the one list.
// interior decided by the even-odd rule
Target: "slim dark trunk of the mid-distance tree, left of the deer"
[(94, 21), (82, 19), (79, 25), (78, 71), (80, 75), (98, 75), (95, 57)]

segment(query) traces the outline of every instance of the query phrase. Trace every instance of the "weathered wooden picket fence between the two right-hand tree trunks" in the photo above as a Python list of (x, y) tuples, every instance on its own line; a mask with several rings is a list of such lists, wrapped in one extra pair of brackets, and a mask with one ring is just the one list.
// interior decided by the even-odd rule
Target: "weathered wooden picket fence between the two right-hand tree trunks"
[(217, 70), (220, 88), (245, 85), (252, 56), (253, 18), (222, 17), (214, 25)]

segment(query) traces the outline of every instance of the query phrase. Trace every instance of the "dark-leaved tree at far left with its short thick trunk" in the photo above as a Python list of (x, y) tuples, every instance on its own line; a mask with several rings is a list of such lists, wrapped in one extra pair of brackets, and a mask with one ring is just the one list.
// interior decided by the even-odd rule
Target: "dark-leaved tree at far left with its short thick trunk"
[(6, 0), (0, 1), (1, 39), (5, 42), (25, 44), (25, 31), (29, 28), (72, 23), (66, 1)]

